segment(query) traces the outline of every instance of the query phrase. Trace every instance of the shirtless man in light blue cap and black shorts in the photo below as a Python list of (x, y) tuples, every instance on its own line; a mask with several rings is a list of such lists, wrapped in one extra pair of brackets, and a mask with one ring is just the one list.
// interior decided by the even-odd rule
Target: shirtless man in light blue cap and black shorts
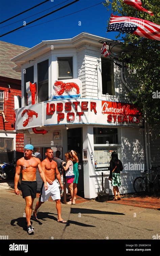
[(18, 181), (20, 179), (20, 172), (22, 171), (22, 182), (21, 190), (22, 196), (26, 201), (26, 222), (27, 222), (27, 232), (28, 234), (34, 234), (34, 228), (30, 223), (31, 213), (33, 209), (33, 201), (36, 197), (37, 192), (37, 182), (36, 182), (36, 169), (38, 168), (40, 176), (44, 182), (44, 189), (47, 190), (47, 182), (45, 173), (41, 167), (41, 161), (32, 157), (33, 146), (31, 144), (25, 145), (24, 153), (25, 157), (20, 158), (17, 161), (16, 174), (15, 174), (15, 193), (19, 195), (19, 190), (17, 188)]

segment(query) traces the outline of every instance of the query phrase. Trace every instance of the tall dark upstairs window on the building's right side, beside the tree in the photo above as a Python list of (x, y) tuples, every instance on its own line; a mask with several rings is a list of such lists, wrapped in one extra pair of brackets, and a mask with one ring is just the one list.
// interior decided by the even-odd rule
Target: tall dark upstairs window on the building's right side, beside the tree
[(101, 66), (102, 66), (102, 94), (115, 95), (113, 62), (111, 60), (108, 60), (102, 57)]

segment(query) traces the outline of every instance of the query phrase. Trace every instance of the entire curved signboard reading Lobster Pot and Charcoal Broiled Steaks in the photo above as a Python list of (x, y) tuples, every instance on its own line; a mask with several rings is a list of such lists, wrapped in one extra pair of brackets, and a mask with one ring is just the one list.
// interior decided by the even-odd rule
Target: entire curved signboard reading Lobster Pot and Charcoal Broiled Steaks
[(133, 104), (85, 98), (45, 101), (16, 110), (16, 130), (55, 124), (142, 126), (142, 115)]

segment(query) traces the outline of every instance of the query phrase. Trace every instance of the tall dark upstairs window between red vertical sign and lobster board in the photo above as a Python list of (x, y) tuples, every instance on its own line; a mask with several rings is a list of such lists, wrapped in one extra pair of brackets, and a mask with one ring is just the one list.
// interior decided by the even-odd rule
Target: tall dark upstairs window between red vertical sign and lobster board
[(48, 100), (49, 60), (38, 63), (38, 103)]

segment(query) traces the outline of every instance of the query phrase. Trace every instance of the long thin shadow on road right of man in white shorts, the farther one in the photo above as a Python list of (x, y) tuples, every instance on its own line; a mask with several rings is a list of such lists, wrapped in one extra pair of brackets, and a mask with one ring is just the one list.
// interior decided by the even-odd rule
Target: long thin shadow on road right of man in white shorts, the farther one
[(99, 210), (92, 210), (92, 209), (85, 209), (85, 208), (71, 208), (71, 213), (125, 215), (124, 213), (119, 213), (119, 212), (107, 212), (107, 211), (99, 211)]

